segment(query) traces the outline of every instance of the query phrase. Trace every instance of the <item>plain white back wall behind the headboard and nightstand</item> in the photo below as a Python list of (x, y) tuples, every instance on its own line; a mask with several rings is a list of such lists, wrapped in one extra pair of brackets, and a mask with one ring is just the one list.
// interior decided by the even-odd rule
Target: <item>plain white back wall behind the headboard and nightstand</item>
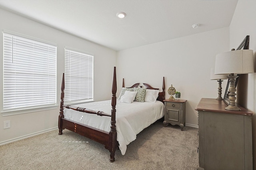
[(127, 49), (117, 53), (117, 76), (125, 78), (125, 86), (140, 82), (160, 89), (164, 76), (166, 99), (172, 84), (181, 99), (188, 100), (186, 125), (197, 126), (195, 107), (200, 99), (218, 97), (218, 82), (210, 80), (210, 68), (214, 68), (216, 54), (228, 50), (228, 27)]

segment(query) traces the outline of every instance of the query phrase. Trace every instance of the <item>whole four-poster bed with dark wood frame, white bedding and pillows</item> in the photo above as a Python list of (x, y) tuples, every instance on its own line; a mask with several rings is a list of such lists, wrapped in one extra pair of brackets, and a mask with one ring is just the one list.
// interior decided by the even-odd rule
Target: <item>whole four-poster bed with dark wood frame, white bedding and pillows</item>
[[(159, 92), (158, 88), (153, 88), (146, 83), (143, 83), (143, 88), (139, 86), (140, 83), (125, 88), (123, 79), (122, 91), (117, 98), (116, 67), (114, 67), (111, 100), (70, 106), (64, 105), (63, 74), (58, 118), (59, 135), (62, 135), (63, 129), (68, 129), (101, 143), (110, 151), (110, 162), (114, 162), (116, 149), (120, 149), (124, 155), (126, 146), (136, 139), (136, 135), (140, 131), (164, 116), (164, 77), (162, 83), (162, 92)], [(158, 95), (154, 96), (157, 99), (151, 101), (151, 98), (148, 98), (149, 95), (145, 93), (147, 98), (144, 96), (144, 100), (149, 100), (149, 102), (141, 102), (139, 93), (145, 89), (146, 92), (155, 93), (157, 91)], [(136, 96), (133, 95), (133, 97), (136, 98), (130, 99), (130, 94), (135, 94), (135, 92), (137, 92)], [(154, 100), (156, 101), (154, 102)]]

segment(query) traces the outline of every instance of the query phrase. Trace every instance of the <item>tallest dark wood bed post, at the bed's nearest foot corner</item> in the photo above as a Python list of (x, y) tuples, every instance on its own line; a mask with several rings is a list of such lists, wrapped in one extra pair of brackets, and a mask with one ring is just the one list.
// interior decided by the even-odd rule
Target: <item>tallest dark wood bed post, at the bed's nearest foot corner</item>
[(110, 126), (110, 133), (109, 133), (109, 144), (110, 144), (110, 162), (115, 161), (115, 152), (116, 152), (116, 67), (114, 67), (114, 74), (113, 74), (113, 82), (112, 82), (112, 98), (111, 98), (111, 126)]

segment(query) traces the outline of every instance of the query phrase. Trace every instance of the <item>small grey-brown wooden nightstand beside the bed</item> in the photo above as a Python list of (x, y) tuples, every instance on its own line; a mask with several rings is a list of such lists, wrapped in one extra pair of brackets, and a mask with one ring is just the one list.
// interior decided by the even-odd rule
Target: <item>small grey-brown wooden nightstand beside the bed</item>
[(179, 125), (181, 131), (183, 131), (186, 120), (186, 102), (187, 100), (164, 100), (166, 108), (163, 122), (164, 127), (170, 123), (171, 125)]

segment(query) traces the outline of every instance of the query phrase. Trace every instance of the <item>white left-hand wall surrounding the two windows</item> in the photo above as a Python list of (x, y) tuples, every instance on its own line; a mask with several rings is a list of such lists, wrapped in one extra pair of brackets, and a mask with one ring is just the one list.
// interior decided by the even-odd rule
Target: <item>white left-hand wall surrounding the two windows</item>
[[(108, 100), (111, 98), (116, 51), (0, 9), (1, 68), (3, 65), (3, 29), (57, 44), (57, 105), (60, 103), (60, 83), (62, 72), (64, 72), (65, 46), (94, 54), (94, 100)], [(3, 70), (0, 69), (1, 82), (3, 80), (2, 75)], [(3, 102), (2, 89), (3, 84), (0, 83), (0, 106)], [(0, 145), (58, 127), (58, 114), (59, 109), (52, 109), (12, 116), (0, 115)], [(11, 121), (11, 128), (9, 129), (3, 129), (3, 122), (6, 120)]]

